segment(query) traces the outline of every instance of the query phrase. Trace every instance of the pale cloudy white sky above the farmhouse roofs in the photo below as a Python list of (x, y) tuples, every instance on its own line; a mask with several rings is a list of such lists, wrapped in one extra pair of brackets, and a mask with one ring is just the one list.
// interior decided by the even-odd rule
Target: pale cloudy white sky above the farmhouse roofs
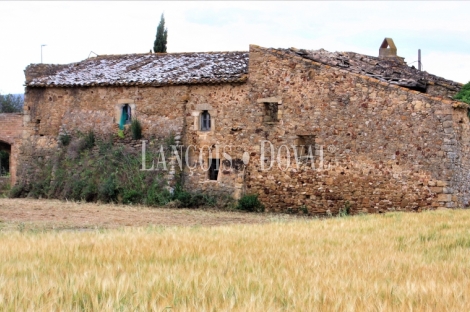
[(385, 37), (417, 67), (470, 80), (470, 2), (450, 1), (0, 1), (0, 94), (24, 92), (32, 63), (79, 62), (93, 53), (147, 53), (160, 16), (167, 52), (273, 48), (378, 56)]

